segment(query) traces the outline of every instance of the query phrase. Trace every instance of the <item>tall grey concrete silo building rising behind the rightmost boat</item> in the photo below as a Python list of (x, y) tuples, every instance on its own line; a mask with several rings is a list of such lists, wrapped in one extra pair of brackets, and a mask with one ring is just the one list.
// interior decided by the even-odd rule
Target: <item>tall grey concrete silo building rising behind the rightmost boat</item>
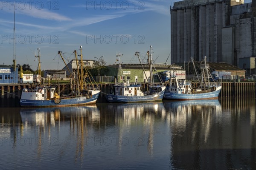
[(239, 66), (240, 58), (256, 56), (255, 0), (183, 0), (170, 10), (172, 62), (207, 56)]

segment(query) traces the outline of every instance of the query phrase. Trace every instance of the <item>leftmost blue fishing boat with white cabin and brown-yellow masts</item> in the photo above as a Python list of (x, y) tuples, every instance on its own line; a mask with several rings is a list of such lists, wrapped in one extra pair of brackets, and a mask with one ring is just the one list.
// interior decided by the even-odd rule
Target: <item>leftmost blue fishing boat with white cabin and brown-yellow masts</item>
[[(21, 98), (20, 98), (20, 106), (22, 107), (60, 107), (60, 106), (73, 106), (73, 105), (87, 105), (93, 104), (96, 102), (97, 98), (99, 97), (100, 90), (99, 87), (94, 87), (91, 85), (91, 88), (88, 88), (85, 79), (88, 77), (84, 76), (84, 65), (82, 60), (82, 46), (80, 46), (81, 50), (81, 64), (78, 65), (78, 59), (76, 51), (74, 51), (76, 56), (76, 64), (77, 64), (77, 71), (76, 75), (72, 75), (71, 80), (73, 82), (72, 89), (70, 89), (70, 94), (58, 93), (55, 87), (50, 86), (49, 84), (42, 85), (41, 81), (35, 85), (32, 85), (32, 88), (24, 88), (22, 90)], [(61, 51), (58, 52), (61, 58), (64, 61), (64, 58), (61, 55)], [(40, 49), (38, 49), (38, 71), (39, 77), (41, 78), (41, 64), (40, 64)], [(67, 66), (66, 62), (64, 61), (65, 65)], [(80, 71), (79, 71), (80, 66)], [(68, 68), (68, 67), (67, 67)], [(86, 69), (85, 69), (86, 70)], [(68, 69), (70, 72), (70, 70)], [(71, 72), (70, 72), (71, 73)], [(88, 74), (85, 74), (88, 75)], [(76, 78), (74, 78), (76, 77)], [(90, 79), (90, 78), (89, 78)], [(92, 84), (92, 82), (90, 83)]]

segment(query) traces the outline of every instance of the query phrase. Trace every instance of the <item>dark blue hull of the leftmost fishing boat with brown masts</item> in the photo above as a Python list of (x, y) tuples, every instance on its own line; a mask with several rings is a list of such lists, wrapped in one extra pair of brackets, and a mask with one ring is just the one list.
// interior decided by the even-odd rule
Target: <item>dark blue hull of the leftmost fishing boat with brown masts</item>
[(55, 103), (54, 100), (29, 100), (20, 99), (21, 107), (61, 107), (61, 106), (77, 106), (77, 105), (88, 105), (96, 102), (100, 94), (100, 91), (92, 95), (90, 99), (85, 96), (79, 96), (74, 98), (64, 98), (61, 102)]

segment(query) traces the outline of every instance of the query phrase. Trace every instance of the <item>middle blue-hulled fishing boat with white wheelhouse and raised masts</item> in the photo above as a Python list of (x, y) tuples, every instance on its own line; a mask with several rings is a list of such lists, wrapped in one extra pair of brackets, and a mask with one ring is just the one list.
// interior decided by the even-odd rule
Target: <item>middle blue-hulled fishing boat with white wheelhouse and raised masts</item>
[[(162, 84), (161, 86), (154, 85), (154, 79), (152, 74), (152, 46), (150, 46), (150, 51), (147, 52), (148, 54), (148, 65), (150, 69), (150, 76), (147, 77), (145, 74), (145, 70), (143, 68), (144, 74), (146, 79), (148, 80), (148, 90), (143, 91), (142, 85), (139, 82), (130, 83), (129, 80), (123, 76), (122, 66), (121, 66), (121, 57), (122, 54), (116, 54), (119, 61), (118, 67), (118, 80), (116, 84), (113, 85), (110, 94), (106, 94), (106, 99), (108, 102), (152, 102), (152, 101), (159, 101), (163, 99), (163, 94), (166, 87)], [(139, 56), (139, 52), (136, 52), (136, 55)], [(140, 60), (140, 63), (143, 67), (143, 64)]]

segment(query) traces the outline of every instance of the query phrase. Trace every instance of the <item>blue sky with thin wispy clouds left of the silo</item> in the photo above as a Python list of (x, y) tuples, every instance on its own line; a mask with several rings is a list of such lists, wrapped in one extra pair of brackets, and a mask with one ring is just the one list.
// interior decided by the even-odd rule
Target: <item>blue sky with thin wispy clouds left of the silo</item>
[[(37, 69), (35, 57), (41, 51), (41, 69), (62, 69), (65, 61), (103, 56), (115, 64), (139, 63), (153, 47), (155, 63), (170, 64), (170, 6), (180, 0), (16, 0), (0, 1), (0, 65), (29, 64)], [(245, 0), (249, 3), (251, 0)], [(15, 11), (15, 57), (14, 57)], [(168, 60), (167, 60), (168, 59)]]

